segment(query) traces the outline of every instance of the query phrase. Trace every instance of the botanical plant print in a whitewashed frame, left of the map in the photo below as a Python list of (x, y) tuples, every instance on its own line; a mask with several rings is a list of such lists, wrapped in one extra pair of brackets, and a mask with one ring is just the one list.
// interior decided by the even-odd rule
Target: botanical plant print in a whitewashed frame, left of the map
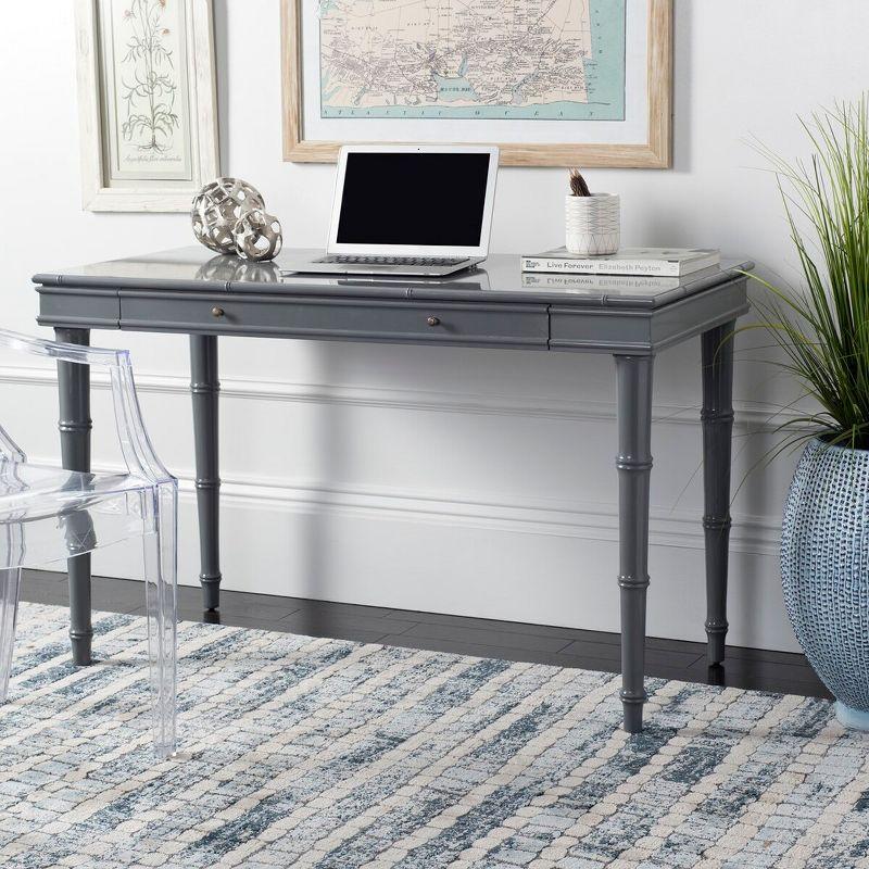
[(83, 206), (189, 211), (219, 175), (211, 0), (75, 0)]

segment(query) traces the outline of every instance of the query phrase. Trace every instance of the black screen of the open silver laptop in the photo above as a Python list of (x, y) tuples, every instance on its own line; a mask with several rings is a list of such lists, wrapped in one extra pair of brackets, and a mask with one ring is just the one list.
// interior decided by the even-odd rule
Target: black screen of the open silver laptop
[(479, 152), (349, 153), (336, 241), (478, 247), (489, 159)]

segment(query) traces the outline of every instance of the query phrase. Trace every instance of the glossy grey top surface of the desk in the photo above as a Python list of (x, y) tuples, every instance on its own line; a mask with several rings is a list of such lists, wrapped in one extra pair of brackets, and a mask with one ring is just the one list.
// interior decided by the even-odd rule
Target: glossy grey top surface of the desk
[(293, 261), (317, 255), (322, 251), (286, 249), (274, 262), (250, 263), (193, 245), (40, 273), (34, 282), (73, 292), (105, 288), (657, 308), (741, 277), (754, 266), (731, 259), (682, 278), (585, 276), (522, 273), (518, 255), (493, 254), (476, 269), (445, 278), (281, 274)]

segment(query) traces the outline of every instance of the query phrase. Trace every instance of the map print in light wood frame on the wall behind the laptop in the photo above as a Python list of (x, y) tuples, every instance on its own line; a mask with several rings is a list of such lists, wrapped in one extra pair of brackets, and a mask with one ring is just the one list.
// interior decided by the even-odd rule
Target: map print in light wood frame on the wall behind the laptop
[(502, 165), (670, 165), (672, 0), (281, 0), (284, 156), (498, 144)]

